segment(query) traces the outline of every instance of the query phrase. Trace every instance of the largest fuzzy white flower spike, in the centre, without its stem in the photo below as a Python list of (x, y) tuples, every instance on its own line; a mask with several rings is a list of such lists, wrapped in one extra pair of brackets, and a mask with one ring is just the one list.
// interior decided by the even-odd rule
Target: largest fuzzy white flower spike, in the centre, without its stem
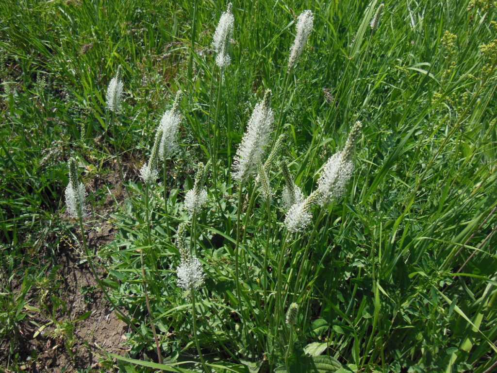
[(242, 138), (233, 162), (235, 180), (245, 181), (248, 175), (255, 173), (257, 165), (261, 162), (274, 120), (273, 110), (269, 104), (270, 94), (271, 91), (267, 90), (264, 99), (255, 105), (248, 120), (247, 132)]

